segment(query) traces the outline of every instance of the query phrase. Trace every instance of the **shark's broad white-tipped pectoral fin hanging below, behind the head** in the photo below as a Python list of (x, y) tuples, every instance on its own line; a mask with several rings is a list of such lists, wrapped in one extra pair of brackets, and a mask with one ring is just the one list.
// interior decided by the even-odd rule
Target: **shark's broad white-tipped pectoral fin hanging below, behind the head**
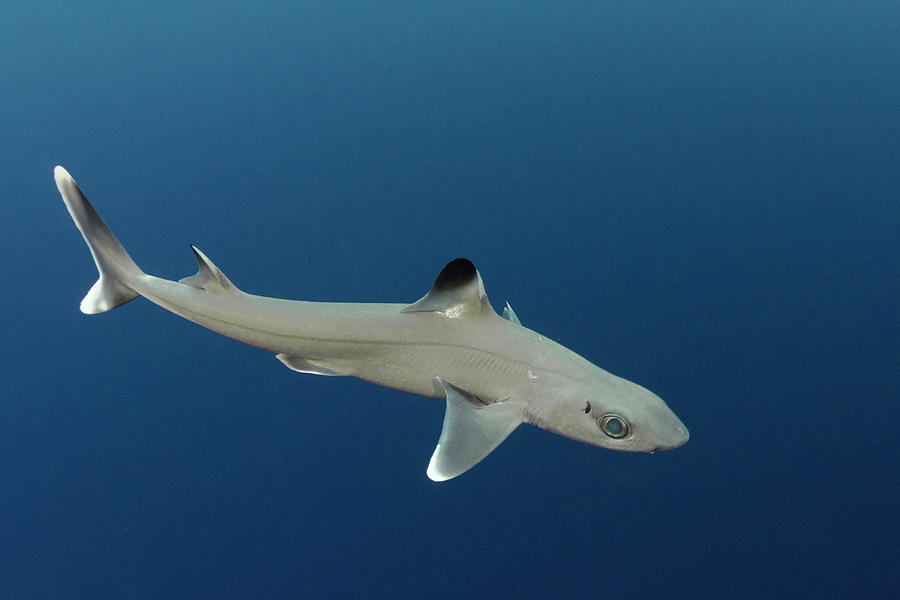
[(433, 481), (445, 481), (493, 452), (522, 423), (522, 408), (509, 401), (484, 404), (469, 392), (437, 379), (447, 395), (447, 412), (427, 473)]

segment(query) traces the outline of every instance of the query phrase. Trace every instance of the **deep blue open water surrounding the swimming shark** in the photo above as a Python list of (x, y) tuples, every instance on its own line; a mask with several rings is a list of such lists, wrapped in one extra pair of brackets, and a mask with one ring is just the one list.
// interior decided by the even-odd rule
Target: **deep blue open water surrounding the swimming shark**
[[(37, 4), (0, 9), (0, 597), (900, 594), (896, 2)], [(469, 257), (691, 440), (521, 427), (435, 484), (441, 402), (80, 314), (55, 164), (167, 278), (195, 243), (403, 302)]]

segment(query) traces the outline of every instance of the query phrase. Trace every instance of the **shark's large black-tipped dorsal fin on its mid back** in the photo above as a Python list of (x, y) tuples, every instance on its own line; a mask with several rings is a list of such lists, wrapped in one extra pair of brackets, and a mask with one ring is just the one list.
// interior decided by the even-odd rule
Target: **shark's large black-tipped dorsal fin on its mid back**
[(466, 258), (457, 258), (441, 270), (425, 296), (400, 312), (439, 312), (451, 318), (493, 314), (481, 275)]

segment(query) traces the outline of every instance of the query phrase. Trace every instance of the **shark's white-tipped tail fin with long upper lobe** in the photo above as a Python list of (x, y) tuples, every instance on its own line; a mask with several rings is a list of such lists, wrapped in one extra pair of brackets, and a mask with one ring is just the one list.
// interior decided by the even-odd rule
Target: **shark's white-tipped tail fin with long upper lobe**
[(102, 313), (137, 298), (139, 294), (128, 282), (142, 276), (143, 271), (88, 202), (69, 172), (57, 166), (53, 169), (53, 178), (100, 273), (97, 283), (81, 301), (81, 312), (88, 315)]

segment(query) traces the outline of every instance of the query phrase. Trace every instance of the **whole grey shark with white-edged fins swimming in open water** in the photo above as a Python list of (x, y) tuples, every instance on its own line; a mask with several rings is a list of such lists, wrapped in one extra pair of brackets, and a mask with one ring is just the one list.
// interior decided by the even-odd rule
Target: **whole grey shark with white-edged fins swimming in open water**
[(655, 452), (688, 441), (687, 428), (649, 390), (522, 326), (508, 304), (497, 315), (466, 259), (450, 262), (412, 304), (254, 296), (194, 246), (197, 274), (169, 281), (141, 271), (65, 169), (56, 167), (54, 178), (100, 274), (82, 312), (106, 312), (143, 296), (274, 352), (295, 371), (444, 398), (444, 423), (427, 469), (434, 481), (469, 470), (522, 423), (612, 450)]

